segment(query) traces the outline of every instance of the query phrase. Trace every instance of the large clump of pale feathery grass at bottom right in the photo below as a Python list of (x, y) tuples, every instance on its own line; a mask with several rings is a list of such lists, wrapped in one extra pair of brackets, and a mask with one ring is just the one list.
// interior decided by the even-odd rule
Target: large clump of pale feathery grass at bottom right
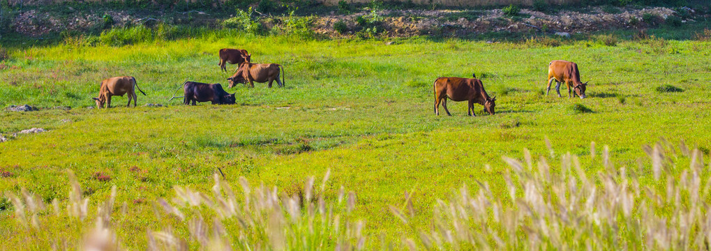
[[(641, 185), (638, 174), (626, 166), (613, 169), (609, 150), (606, 166), (597, 174), (583, 171), (577, 156), (562, 155), (555, 171), (545, 158), (538, 170), (525, 170), (515, 159), (503, 157), (513, 172), (504, 174), (509, 189), (491, 193), (486, 183), (469, 196), (466, 186), (437, 201), (432, 230), (419, 230), (397, 208), (390, 208), (405, 225), (415, 228), (415, 243), (403, 237), (403, 245), (426, 250), (701, 250), (711, 240), (711, 215), (706, 201), (711, 186), (711, 169), (702, 169), (697, 150), (673, 159), (663, 152), (675, 152), (670, 144), (649, 149), (656, 165), (656, 182)], [(673, 167), (689, 158), (688, 168)], [(668, 172), (661, 176), (663, 165)], [(708, 177), (708, 178), (707, 178)], [(707, 178), (707, 179), (705, 179)], [(476, 190), (474, 190), (476, 191)], [(520, 192), (518, 192), (520, 191)], [(522, 197), (518, 197), (517, 193)], [(510, 199), (513, 203), (502, 203)], [(411, 240), (408, 242), (407, 240)]]

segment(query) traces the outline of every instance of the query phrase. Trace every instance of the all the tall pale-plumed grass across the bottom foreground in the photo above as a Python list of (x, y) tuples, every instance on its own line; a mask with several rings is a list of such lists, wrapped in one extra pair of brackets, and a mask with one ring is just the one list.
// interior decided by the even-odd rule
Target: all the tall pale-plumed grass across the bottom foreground
[[(592, 143), (590, 157), (603, 169), (589, 176), (587, 166), (570, 152), (560, 156), (560, 165), (552, 165), (524, 149), (523, 161), (503, 157), (510, 167), (503, 173), (505, 193), (493, 191), (496, 186), (486, 181), (478, 181), (476, 190), (463, 186), (437, 201), (427, 229), (412, 223), (416, 213), (410, 194), (401, 208), (390, 206), (390, 211), (412, 229), (403, 233), (401, 243), (410, 250), (705, 249), (711, 240), (711, 163), (705, 168), (702, 151), (683, 141), (678, 146), (661, 141), (643, 150), (651, 166), (641, 161), (636, 168), (615, 166), (608, 147), (596, 155)], [(42, 230), (53, 222), (48, 218), (67, 219), (70, 229), (86, 231), (65, 249), (123, 250), (117, 219), (127, 205), (114, 213), (116, 187), (106, 201), (91, 207), (68, 172), (72, 186), (63, 205), (55, 199), (49, 207), (25, 189), (6, 193), (18, 228)], [(148, 229), (146, 249), (361, 250), (370, 239), (363, 234), (363, 221), (352, 217), (355, 194), (341, 187), (336, 198), (324, 196), (329, 175), (316, 185), (309, 178), (292, 194), (250, 186), (240, 178), (242, 196), (237, 196), (218, 174), (210, 193), (176, 186), (173, 198), (154, 201), (156, 217), (169, 218), (173, 225)], [(641, 185), (650, 179), (650, 185)]]

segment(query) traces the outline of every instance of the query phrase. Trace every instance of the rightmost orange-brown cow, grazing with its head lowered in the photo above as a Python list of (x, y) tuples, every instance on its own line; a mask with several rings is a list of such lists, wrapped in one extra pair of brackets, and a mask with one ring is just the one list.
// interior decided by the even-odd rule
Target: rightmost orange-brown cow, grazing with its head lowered
[(550, 92), (550, 84), (555, 80), (555, 91), (560, 96), (560, 83), (565, 82), (568, 87), (568, 98), (570, 98), (570, 86), (572, 85), (575, 91), (573, 95), (578, 95), (580, 98), (585, 98), (585, 89), (587, 82), (580, 82), (580, 72), (577, 70), (577, 64), (565, 60), (552, 60), (548, 64), (548, 88), (545, 95)]

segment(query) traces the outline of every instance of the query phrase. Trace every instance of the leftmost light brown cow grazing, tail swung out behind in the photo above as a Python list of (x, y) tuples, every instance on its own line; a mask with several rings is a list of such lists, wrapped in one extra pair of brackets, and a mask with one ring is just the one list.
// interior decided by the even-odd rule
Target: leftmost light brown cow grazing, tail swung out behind
[(128, 93), (129, 96), (129, 102), (126, 105), (126, 107), (129, 107), (131, 105), (131, 100), (134, 100), (134, 107), (136, 107), (136, 90), (134, 89), (138, 88), (138, 90), (143, 93), (143, 95), (146, 95), (146, 92), (143, 92), (140, 87), (138, 87), (138, 84), (136, 82), (136, 78), (131, 77), (131, 76), (123, 76), (123, 77), (114, 77), (114, 78), (107, 78), (105, 80), (101, 81), (101, 87), (99, 87), (99, 97), (92, 97), (94, 100), (96, 100), (96, 107), (97, 108), (102, 108), (104, 107), (104, 104), (106, 104), (107, 108), (111, 107), (111, 96), (121, 96), (123, 97), (125, 94)]

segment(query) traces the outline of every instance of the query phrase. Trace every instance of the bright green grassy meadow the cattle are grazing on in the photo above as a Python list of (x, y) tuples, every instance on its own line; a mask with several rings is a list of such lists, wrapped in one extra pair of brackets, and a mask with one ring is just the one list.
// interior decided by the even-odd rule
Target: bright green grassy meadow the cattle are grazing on
[[(225, 79), (230, 75), (221, 73), (217, 65), (220, 48), (245, 48), (255, 63), (284, 65), (286, 87), (275, 84), (269, 89), (265, 83), (255, 83), (253, 89), (227, 90), (236, 92), (237, 105), (192, 107), (183, 106), (181, 99), (169, 101), (185, 80), (227, 87)], [(442, 205), (438, 199), (461, 196), (463, 185), (473, 195), (487, 191), (504, 207), (516, 204), (508, 198), (506, 185), (515, 165), (502, 156), (524, 162), (524, 149), (529, 149), (534, 160), (545, 156), (558, 171), (565, 170), (558, 166), (572, 166), (571, 156), (566, 155), (570, 153), (579, 160), (582, 174), (591, 179), (609, 172), (626, 184), (627, 176), (609, 171), (624, 166), (637, 188), (664, 191), (666, 180), (655, 177), (661, 164), (653, 164), (643, 145), (665, 139), (670, 143), (663, 146), (676, 147), (684, 141), (690, 149), (699, 149), (694, 154), (704, 160), (711, 148), (711, 41), (651, 37), (606, 44), (593, 36), (549, 47), (537, 40), (485, 43), (417, 37), (387, 45), (380, 40), (321, 41), (215, 32), (122, 47), (58, 45), (8, 48), (8, 52), (9, 58), (0, 63), (6, 65), (0, 70), (0, 107), (27, 104), (43, 109), (0, 111), (0, 133), (10, 139), (0, 143), (0, 171), (7, 173), (0, 177), (0, 191), (6, 195), (0, 199), (4, 237), (0, 250), (71, 250), (95, 222), (91, 216), (72, 218), (47, 209), (38, 210), (36, 219), (28, 220), (32, 223), (23, 224), (8, 194), (26, 188), (33, 196), (25, 198), (36, 198), (47, 208), (56, 199), (64, 211), (76, 205), (76, 191), (80, 191), (79, 198), (89, 199), (88, 214), (102, 215), (105, 210), (94, 208), (114, 200), (113, 186), (115, 203), (107, 208), (114, 213), (105, 221), (123, 247), (144, 249), (151, 245), (146, 231), (162, 230), (188, 240), (188, 249), (201, 249), (201, 239), (188, 238), (193, 223), (168, 216), (156, 201), (171, 201), (175, 187), (211, 194), (215, 187), (225, 186), (215, 186), (214, 175), (220, 171), (225, 176), (218, 178), (220, 182), (237, 193), (244, 177), (252, 187), (264, 184), (266, 191), (275, 186), (279, 193), (304, 196), (309, 191), (304, 183), (315, 177), (314, 194), (333, 203), (334, 211), (347, 212), (348, 219), (363, 220), (365, 244), (354, 247), (379, 249), (391, 243), (400, 249), (412, 243), (419, 249), (427, 247), (427, 241), (418, 230), (434, 228), (433, 213), (438, 210), (433, 208)], [(582, 81), (589, 81), (587, 99), (568, 99), (565, 86), (563, 98), (555, 90), (545, 95), (547, 65), (556, 59), (579, 65)], [(472, 73), (481, 78), (489, 95), (497, 97), (496, 114), (483, 114), (483, 107), (475, 105), (477, 117), (467, 117), (465, 102), (449, 102), (454, 116), (435, 116), (432, 82)], [(116, 75), (134, 76), (148, 96), (138, 93), (139, 107), (124, 107), (127, 98), (114, 97), (112, 109), (87, 109), (95, 104), (91, 97), (96, 97), (100, 80)], [(673, 88), (667, 85), (679, 90), (670, 91)], [(143, 107), (146, 103), (166, 106)], [(11, 137), (32, 127), (48, 132)], [(597, 156), (591, 154), (593, 141)], [(602, 154), (605, 146), (609, 156)], [(672, 154), (673, 149), (668, 148), (664, 157), (665, 174), (679, 177), (697, 156), (688, 151), (680, 154), (683, 147)], [(696, 170), (695, 164), (691, 166)], [(703, 170), (699, 175), (706, 184), (709, 173)], [(518, 178), (522, 182), (530, 178), (523, 173)], [(326, 175), (328, 181), (322, 185)], [(562, 180), (579, 178), (581, 173), (568, 175)], [(673, 187), (684, 184), (669, 180)], [(74, 182), (80, 190), (75, 190)], [(579, 182), (588, 188), (599, 185), (603, 193), (602, 179), (597, 185)], [(342, 193), (348, 192), (355, 194), (353, 205), (341, 202)], [(75, 197), (68, 197), (70, 193)], [(634, 198), (641, 203), (643, 196), (638, 195)], [(247, 198), (236, 196), (234, 201), (248, 203)], [(708, 203), (709, 198), (703, 194), (694, 203)], [(671, 201), (670, 205), (678, 204)], [(201, 221), (204, 217), (206, 225), (220, 225), (212, 220), (218, 213), (205, 206), (196, 208), (184, 211), (200, 215)], [(659, 208), (657, 215), (676, 212), (672, 207)], [(699, 208), (705, 215), (706, 208)], [(407, 224), (395, 213), (400, 210), (411, 212)], [(633, 215), (646, 214), (635, 210)], [(222, 224), (229, 232), (240, 223), (225, 220)], [(585, 243), (588, 235), (569, 231), (565, 236)], [(343, 235), (353, 235), (346, 232)], [(526, 243), (525, 236), (533, 235), (514, 230), (511, 236), (520, 237), (520, 245), (506, 247), (518, 249)], [(621, 238), (631, 243), (630, 248), (665, 247), (637, 245), (643, 243), (634, 242), (637, 237)], [(321, 240), (321, 246), (289, 249), (337, 245), (331, 236)], [(497, 247), (495, 240), (483, 242)], [(481, 243), (474, 247), (484, 249)]]

